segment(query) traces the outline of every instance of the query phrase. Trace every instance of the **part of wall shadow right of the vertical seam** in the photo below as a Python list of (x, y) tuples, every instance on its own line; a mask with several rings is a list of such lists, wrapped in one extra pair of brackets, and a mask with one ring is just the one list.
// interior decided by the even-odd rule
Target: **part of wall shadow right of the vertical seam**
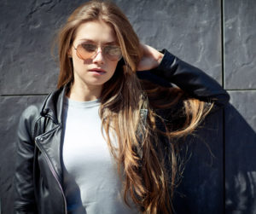
[(225, 124), (225, 212), (256, 213), (256, 133), (231, 105)]

